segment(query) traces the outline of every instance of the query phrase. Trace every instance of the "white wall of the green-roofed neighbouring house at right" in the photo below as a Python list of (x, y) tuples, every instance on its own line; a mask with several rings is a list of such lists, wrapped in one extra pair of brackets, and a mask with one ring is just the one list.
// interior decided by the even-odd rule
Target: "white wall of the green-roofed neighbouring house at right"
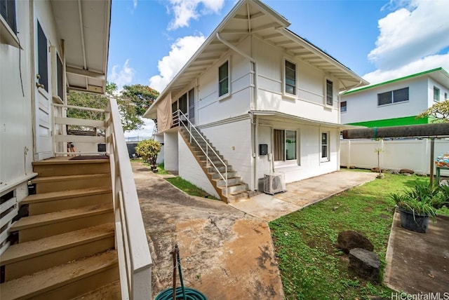
[[(377, 94), (407, 87), (410, 100), (377, 106)], [(429, 85), (427, 77), (419, 77), (342, 95), (347, 111), (341, 114), (341, 123), (416, 116), (433, 104), (433, 93), (433, 85)]]

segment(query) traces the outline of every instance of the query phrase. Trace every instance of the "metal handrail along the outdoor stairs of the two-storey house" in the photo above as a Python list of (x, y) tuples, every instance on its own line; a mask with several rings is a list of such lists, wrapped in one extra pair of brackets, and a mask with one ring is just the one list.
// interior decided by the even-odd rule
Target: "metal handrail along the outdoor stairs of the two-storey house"
[[(225, 161), (223, 161), (222, 158), (220, 158), (220, 156), (217, 154), (217, 152), (215, 152), (213, 147), (203, 137), (201, 132), (199, 132), (199, 130), (196, 129), (195, 125), (193, 125), (192, 122), (190, 122), (189, 118), (187, 118), (187, 116), (185, 116), (185, 114), (182, 113), (182, 111), (180, 111), (179, 109), (173, 113), (173, 125), (182, 126), (183, 128), (185, 128), (185, 130), (187, 130), (187, 132), (189, 132), (189, 142), (192, 143), (192, 139), (193, 139), (195, 144), (197, 146), (199, 146), (199, 149), (201, 149), (203, 154), (206, 156), (206, 167), (212, 165), (212, 167), (217, 171), (218, 175), (220, 175), (220, 177), (225, 181), (225, 195), (227, 196), (227, 194), (228, 194), (228, 191), (227, 191), (227, 164), (225, 163)], [(205, 147), (201, 146), (201, 144), (198, 142), (198, 140), (194, 137), (193, 132), (196, 132), (199, 135), (199, 137), (201, 137), (200, 142), (202, 140), (204, 142), (204, 144), (206, 144)], [(206, 148), (206, 149), (204, 149), (204, 148)], [(213, 160), (212, 160), (212, 158), (210, 158), (209, 154), (215, 155), (215, 157), (218, 158), (220, 163), (225, 166), (225, 175), (222, 175), (222, 172), (220, 172), (220, 170), (218, 170), (217, 165), (215, 165), (215, 163), (213, 163)]]

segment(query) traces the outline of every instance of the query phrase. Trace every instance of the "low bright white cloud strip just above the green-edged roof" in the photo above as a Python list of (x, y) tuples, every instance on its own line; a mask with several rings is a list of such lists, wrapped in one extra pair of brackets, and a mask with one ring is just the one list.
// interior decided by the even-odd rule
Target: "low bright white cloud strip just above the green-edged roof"
[(441, 55), (429, 55), (420, 60), (415, 60), (401, 67), (391, 70), (377, 69), (373, 72), (363, 75), (363, 79), (371, 84), (389, 81), (397, 79), (403, 76), (420, 73), (422, 71), (428, 71), (443, 67), (445, 70), (449, 70), (449, 53)]

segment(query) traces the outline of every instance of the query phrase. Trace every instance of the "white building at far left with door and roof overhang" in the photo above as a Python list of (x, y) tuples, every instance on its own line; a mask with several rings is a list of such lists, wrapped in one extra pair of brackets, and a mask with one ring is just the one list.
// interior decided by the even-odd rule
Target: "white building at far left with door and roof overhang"
[(110, 9), (110, 1), (0, 0), (2, 251), (8, 216), (36, 176), (32, 162), (66, 151), (54, 149), (52, 115), (65, 113), (52, 104), (67, 104), (67, 88), (105, 92)]

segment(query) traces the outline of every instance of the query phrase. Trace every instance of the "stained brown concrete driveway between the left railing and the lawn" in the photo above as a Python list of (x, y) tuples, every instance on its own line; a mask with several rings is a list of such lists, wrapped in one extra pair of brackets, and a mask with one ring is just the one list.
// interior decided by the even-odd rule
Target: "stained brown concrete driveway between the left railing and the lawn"
[(177, 243), (185, 286), (208, 299), (283, 299), (267, 222), (220, 200), (187, 196), (141, 163), (131, 165), (152, 253), (154, 297), (172, 285), (170, 251)]

